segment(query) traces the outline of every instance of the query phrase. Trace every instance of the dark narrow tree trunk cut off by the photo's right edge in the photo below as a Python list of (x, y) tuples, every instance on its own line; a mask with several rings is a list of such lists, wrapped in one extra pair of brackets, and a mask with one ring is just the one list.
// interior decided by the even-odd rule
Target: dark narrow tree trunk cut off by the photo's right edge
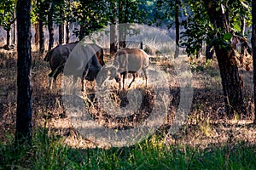
[(253, 15), (253, 32), (252, 32), (252, 48), (253, 48), (253, 90), (254, 90), (254, 123), (256, 123), (256, 2), (252, 3)]

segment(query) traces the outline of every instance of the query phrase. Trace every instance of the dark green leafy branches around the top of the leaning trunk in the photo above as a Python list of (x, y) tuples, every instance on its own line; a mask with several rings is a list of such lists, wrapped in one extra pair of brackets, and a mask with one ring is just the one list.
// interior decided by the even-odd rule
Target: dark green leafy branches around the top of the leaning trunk
[(182, 32), (181, 45), (186, 47), (186, 52), (189, 55), (195, 55), (201, 49), (202, 43), (207, 42), (210, 45), (217, 45), (219, 48), (230, 50), (232, 35), (241, 35), (241, 19), (244, 20), (247, 26), (251, 25), (250, 1), (221, 1), (216, 10), (224, 10), (229, 12), (229, 27), (231, 33), (226, 33), (224, 30), (216, 29), (207, 15), (207, 9), (201, 1), (189, 0), (184, 2), (188, 5), (191, 13), (187, 20), (183, 20), (185, 30)]

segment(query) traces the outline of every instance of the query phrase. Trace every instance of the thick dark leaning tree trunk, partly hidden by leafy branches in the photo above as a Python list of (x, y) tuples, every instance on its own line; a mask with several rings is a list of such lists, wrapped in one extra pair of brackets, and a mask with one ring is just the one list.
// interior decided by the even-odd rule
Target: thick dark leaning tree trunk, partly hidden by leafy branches
[[(215, 1), (204, 1), (207, 14), (210, 21), (216, 29), (224, 31), (222, 33), (229, 33), (229, 15)], [(217, 37), (219, 39), (223, 37)], [(247, 115), (245, 109), (242, 92), (241, 81), (236, 65), (235, 53), (231, 46), (221, 48), (220, 44), (213, 44), (214, 50), (218, 59), (218, 67), (221, 75), (222, 86), (224, 91), (224, 102), (226, 105), (227, 116), (230, 118), (234, 116), (235, 111), (240, 115)]]

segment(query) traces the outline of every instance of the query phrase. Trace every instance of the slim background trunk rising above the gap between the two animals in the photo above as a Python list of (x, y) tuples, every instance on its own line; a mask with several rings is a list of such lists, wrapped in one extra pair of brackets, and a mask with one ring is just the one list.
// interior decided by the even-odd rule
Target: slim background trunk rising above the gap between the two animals
[(111, 6), (113, 8), (113, 16), (110, 18), (112, 26), (110, 26), (110, 56), (113, 56), (118, 49), (117, 42), (117, 25), (116, 25), (116, 3), (112, 2)]

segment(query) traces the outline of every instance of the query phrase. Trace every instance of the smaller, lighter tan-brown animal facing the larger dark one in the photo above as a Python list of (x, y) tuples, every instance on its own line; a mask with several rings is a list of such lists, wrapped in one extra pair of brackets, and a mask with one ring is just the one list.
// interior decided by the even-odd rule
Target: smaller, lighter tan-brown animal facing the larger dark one
[(109, 79), (115, 78), (116, 82), (119, 82), (119, 88), (121, 88), (121, 76), (123, 76), (123, 89), (125, 89), (125, 77), (128, 73), (132, 73), (133, 79), (130, 82), (128, 88), (131, 88), (132, 82), (135, 82), (137, 72), (143, 70), (144, 77), (146, 79), (147, 87), (147, 68), (149, 65), (148, 54), (142, 49), (138, 48), (122, 48), (115, 54), (113, 60), (113, 66), (110, 69)]

